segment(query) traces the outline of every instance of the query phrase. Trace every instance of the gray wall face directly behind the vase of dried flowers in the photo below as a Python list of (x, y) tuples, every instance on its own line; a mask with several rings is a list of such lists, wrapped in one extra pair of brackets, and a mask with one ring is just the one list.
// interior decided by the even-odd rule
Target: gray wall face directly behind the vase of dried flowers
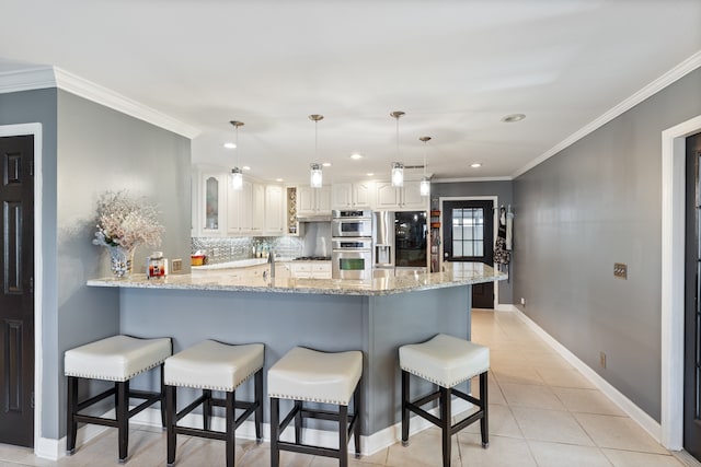
[(45, 387), (60, 390), (58, 406), (44, 408), (47, 437), (65, 435), (62, 359), (54, 355), (119, 331), (118, 293), (85, 287), (111, 275), (105, 248), (91, 243), (100, 195), (126, 189), (161, 211), (163, 243), (137, 248), (135, 271), (152, 249), (183, 258), (188, 271), (191, 243), (189, 139), (59, 91), (57, 161), (58, 338), (44, 354), (55, 370)]

